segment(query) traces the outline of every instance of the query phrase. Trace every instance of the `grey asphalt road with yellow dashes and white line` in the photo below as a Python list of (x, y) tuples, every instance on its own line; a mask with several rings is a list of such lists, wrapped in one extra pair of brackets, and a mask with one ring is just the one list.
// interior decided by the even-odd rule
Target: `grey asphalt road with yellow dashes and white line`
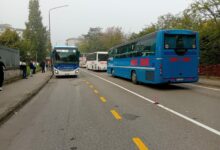
[(1, 150), (220, 150), (220, 90), (53, 78), (0, 127)]

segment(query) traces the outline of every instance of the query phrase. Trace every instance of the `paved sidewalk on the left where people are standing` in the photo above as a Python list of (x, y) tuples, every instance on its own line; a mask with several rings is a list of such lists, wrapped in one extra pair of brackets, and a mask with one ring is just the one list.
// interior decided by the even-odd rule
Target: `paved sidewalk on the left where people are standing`
[(52, 73), (37, 73), (3, 86), (0, 91), (0, 123), (33, 97), (50, 79)]

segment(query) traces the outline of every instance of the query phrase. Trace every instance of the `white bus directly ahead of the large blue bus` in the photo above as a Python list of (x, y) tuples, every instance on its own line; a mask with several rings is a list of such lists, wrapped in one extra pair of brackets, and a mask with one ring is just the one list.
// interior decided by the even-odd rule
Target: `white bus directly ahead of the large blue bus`
[(108, 52), (94, 52), (86, 57), (86, 68), (88, 70), (107, 70)]

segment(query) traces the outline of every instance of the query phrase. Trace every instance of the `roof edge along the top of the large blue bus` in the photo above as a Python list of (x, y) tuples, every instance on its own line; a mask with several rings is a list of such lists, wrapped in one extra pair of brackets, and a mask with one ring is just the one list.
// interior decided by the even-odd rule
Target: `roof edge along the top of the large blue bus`
[(196, 33), (195, 31), (186, 30), (186, 29), (164, 29), (164, 30), (158, 30), (158, 31), (156, 31), (156, 32), (152, 32), (152, 33), (146, 34), (146, 35), (144, 35), (144, 36), (142, 36), (142, 37), (139, 37), (139, 38), (136, 38), (136, 39), (133, 39), (133, 40), (130, 40), (130, 41), (121, 43), (121, 44), (119, 44), (119, 45), (116, 45), (116, 46), (110, 48), (110, 50), (111, 50), (111, 49), (114, 49), (114, 48), (117, 48), (117, 47), (120, 47), (120, 46), (123, 46), (123, 45), (127, 45), (127, 44), (131, 44), (131, 43), (137, 42), (137, 41), (139, 41), (139, 40), (141, 40), (141, 39), (144, 39), (144, 38), (146, 38), (146, 37), (152, 36), (152, 35), (157, 34), (157, 33), (159, 33), (159, 32), (160, 32), (160, 33), (171, 33), (171, 32), (172, 32), (172, 33), (176, 33), (176, 34), (178, 34), (178, 33), (179, 33), (179, 34), (180, 34), (180, 33), (183, 33), (183, 34)]

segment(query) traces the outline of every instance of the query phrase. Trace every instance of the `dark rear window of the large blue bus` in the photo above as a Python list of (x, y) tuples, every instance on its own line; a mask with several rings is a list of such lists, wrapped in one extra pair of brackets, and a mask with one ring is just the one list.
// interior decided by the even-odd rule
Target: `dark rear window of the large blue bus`
[(165, 49), (195, 49), (196, 35), (165, 34)]

